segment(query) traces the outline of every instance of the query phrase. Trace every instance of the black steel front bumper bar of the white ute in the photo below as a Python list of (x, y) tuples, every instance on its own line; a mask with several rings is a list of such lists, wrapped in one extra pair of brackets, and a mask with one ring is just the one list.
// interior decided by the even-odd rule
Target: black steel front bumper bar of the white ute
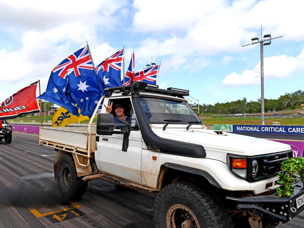
[(278, 197), (276, 194), (235, 198), (227, 196), (226, 200), (237, 204), (239, 210), (255, 210), (278, 221), (287, 223), (304, 210), (304, 205), (297, 208), (296, 199), (304, 195), (301, 181), (294, 185), (294, 195)]

